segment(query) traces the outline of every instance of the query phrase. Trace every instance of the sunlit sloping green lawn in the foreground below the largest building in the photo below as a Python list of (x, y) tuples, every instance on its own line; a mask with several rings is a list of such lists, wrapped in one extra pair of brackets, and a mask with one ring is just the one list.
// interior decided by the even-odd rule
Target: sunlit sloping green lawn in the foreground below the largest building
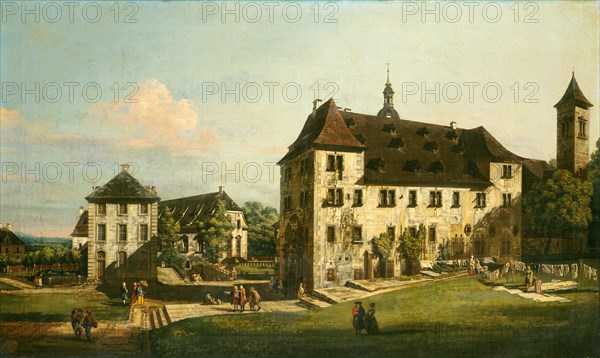
[(156, 356), (598, 356), (597, 292), (539, 303), (468, 277), (365, 299), (381, 334), (355, 336), (351, 302), (302, 313), (187, 319), (151, 332)]

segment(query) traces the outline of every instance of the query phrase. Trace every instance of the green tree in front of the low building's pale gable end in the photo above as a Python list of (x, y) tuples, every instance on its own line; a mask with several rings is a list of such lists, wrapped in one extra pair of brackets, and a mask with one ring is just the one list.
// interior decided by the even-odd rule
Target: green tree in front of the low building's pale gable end
[(225, 210), (225, 201), (219, 200), (210, 218), (201, 222), (198, 228), (196, 240), (203, 247), (203, 257), (211, 263), (217, 263), (227, 249), (227, 242), (231, 240), (231, 232), (235, 229)]

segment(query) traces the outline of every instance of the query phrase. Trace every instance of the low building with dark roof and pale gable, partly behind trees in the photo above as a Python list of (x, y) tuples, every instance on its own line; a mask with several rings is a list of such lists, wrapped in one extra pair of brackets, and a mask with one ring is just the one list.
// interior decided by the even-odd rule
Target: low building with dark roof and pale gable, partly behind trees
[(223, 253), (222, 258), (248, 257), (248, 225), (244, 213), (242, 208), (220, 186), (218, 192), (160, 202), (159, 217), (163, 215), (165, 208), (168, 207), (171, 210), (173, 218), (180, 226), (181, 242), (179, 246), (189, 259), (193, 259), (194, 256), (202, 256), (202, 245), (196, 240), (199, 224), (210, 219), (219, 200), (225, 202), (227, 215), (231, 222), (235, 224), (231, 237), (227, 241), (227, 250)]

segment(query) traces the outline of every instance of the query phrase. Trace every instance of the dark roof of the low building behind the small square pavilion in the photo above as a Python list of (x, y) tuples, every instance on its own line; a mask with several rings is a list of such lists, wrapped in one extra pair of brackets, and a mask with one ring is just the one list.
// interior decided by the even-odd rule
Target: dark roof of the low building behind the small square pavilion
[[(225, 201), (225, 209), (228, 211), (242, 211), (227, 193), (215, 192), (161, 201), (158, 205), (159, 217), (162, 216), (165, 207), (168, 207), (175, 221), (181, 226), (182, 233), (197, 233), (198, 223), (210, 218), (219, 200)], [(245, 228), (245, 223), (243, 227)]]

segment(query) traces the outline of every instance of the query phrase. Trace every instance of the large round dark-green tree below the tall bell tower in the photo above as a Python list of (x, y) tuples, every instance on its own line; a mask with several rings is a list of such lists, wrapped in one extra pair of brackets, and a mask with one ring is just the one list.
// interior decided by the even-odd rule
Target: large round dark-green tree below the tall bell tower
[(567, 170), (557, 170), (552, 178), (535, 183), (525, 195), (525, 213), (532, 229), (543, 235), (566, 236), (587, 230), (592, 220), (592, 184)]

